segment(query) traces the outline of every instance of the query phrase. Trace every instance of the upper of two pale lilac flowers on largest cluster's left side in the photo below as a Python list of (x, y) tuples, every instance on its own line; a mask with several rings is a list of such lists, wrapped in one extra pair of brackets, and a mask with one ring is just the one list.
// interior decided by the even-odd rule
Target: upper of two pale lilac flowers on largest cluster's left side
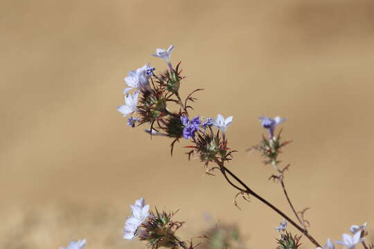
[(150, 85), (149, 79), (154, 71), (154, 67), (151, 67), (149, 64), (145, 64), (141, 68), (138, 68), (134, 71), (127, 73), (125, 77), (125, 82), (130, 88), (125, 89), (123, 93), (127, 93), (132, 89), (144, 89)]

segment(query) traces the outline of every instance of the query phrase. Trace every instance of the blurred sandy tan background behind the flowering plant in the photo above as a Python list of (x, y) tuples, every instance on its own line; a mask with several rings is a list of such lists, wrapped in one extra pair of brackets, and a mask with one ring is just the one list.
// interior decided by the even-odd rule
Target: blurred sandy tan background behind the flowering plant
[[(233, 116), (233, 171), (292, 215), (258, 154), (258, 116), (285, 116), (282, 156), (290, 195), (321, 243), (352, 224), (374, 232), (374, 2), (1, 1), (0, 248), (144, 248), (124, 241), (128, 205), (181, 209), (181, 237), (238, 223), (249, 248), (274, 248), (282, 220), (258, 201), (232, 205), (221, 177), (202, 177), (186, 141), (150, 141), (116, 111), (123, 77), (176, 46), (188, 78), (204, 88), (201, 116)], [(211, 223), (206, 221), (209, 214)], [(293, 231), (293, 230), (292, 230)], [(373, 235), (371, 235), (373, 241)], [(313, 246), (303, 239), (303, 248)]]

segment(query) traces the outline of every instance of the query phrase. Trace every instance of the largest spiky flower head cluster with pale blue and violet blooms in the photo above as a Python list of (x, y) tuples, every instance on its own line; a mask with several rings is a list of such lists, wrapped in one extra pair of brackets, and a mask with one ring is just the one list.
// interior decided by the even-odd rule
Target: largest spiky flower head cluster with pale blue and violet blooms
[[(170, 55), (174, 46), (167, 50), (157, 48), (154, 57), (164, 59), (168, 64), (168, 70), (154, 73), (155, 68), (145, 64), (141, 68), (130, 71), (125, 77), (129, 88), (125, 89), (125, 104), (117, 108), (124, 117), (130, 116), (127, 126), (136, 127), (140, 124), (148, 124), (145, 129), (151, 136), (161, 135), (173, 138), (171, 152), (175, 142), (180, 138), (191, 139), (195, 145), (193, 154), (199, 154), (204, 162), (217, 160), (220, 155), (222, 160), (228, 160), (226, 156), (227, 140), (226, 130), (232, 124), (233, 117), (224, 118), (221, 114), (217, 118), (205, 118), (199, 116), (190, 118), (188, 111), (192, 110), (190, 103), (196, 98), (193, 93), (202, 89), (196, 89), (188, 94), (185, 100), (181, 99), (179, 87), (181, 80), (180, 63), (175, 68), (170, 62)], [(130, 91), (135, 90), (134, 93)], [(169, 104), (177, 104), (179, 111), (172, 112)], [(221, 133), (215, 133), (213, 127)], [(208, 132), (207, 132), (208, 131)], [(191, 155), (189, 153), (189, 155)]]

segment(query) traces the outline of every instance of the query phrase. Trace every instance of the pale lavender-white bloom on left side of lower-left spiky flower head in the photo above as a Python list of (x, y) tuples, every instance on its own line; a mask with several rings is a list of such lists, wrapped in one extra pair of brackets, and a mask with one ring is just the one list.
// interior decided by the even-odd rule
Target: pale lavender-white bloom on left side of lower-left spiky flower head
[(130, 205), (132, 215), (125, 221), (125, 228), (123, 228), (123, 239), (134, 239), (138, 232), (139, 226), (148, 218), (150, 205), (145, 205), (143, 197), (135, 201), (135, 205)]

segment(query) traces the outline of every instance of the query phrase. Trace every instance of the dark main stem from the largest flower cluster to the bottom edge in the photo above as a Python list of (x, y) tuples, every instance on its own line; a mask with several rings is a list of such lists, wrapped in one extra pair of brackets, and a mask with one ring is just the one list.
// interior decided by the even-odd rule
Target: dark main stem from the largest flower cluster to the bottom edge
[[(259, 201), (261, 201), (262, 203), (264, 203), (265, 205), (267, 205), (269, 208), (271, 208), (272, 210), (274, 210), (275, 212), (277, 212), (278, 214), (280, 214), (284, 219), (286, 219), (288, 222), (290, 222), (292, 225), (294, 225), (294, 227), (297, 230), (299, 230), (301, 233), (303, 233), (305, 235), (305, 237), (307, 237), (312, 243), (314, 243), (315, 246), (321, 247), (321, 245), (310, 234), (308, 234), (307, 230), (301, 228), (300, 225), (298, 225), (296, 222), (294, 222), (289, 216), (287, 216), (281, 210), (279, 210), (278, 208), (276, 208), (276, 206), (274, 206), (271, 203), (269, 203), (269, 201), (263, 199), (261, 196), (259, 196), (258, 194), (256, 194), (256, 192), (253, 192), (253, 190), (251, 190), (242, 180), (240, 180), (240, 178), (238, 178), (238, 176), (236, 176), (235, 174), (233, 174), (233, 172), (231, 172), (229, 169), (227, 169), (224, 166), (223, 162), (217, 161), (216, 163), (220, 166), (220, 168), (224, 172), (227, 172), (231, 177), (233, 177), (235, 179), (235, 181), (237, 181), (238, 183), (240, 183), (240, 185), (242, 185), (242, 187), (244, 187), (244, 189), (245, 189), (244, 192), (246, 192), (247, 194), (251, 194), (256, 199), (258, 199)], [(222, 172), (222, 170), (221, 170), (221, 172)], [(223, 172), (222, 172), (222, 174), (223, 174)], [(227, 178), (226, 178), (226, 181), (227, 181)]]

